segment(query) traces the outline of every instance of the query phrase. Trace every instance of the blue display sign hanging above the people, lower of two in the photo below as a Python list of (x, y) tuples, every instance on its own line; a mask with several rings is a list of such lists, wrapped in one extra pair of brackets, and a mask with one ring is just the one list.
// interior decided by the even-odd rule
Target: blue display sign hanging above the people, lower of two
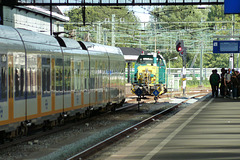
[(213, 41), (213, 53), (240, 53), (240, 41)]

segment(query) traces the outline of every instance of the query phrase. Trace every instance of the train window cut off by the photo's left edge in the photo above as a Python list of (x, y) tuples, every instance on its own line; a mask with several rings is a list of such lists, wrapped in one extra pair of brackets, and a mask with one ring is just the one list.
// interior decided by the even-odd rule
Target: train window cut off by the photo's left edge
[(1, 77), (0, 77), (0, 100), (4, 100), (7, 98), (7, 75), (6, 68), (1, 67)]

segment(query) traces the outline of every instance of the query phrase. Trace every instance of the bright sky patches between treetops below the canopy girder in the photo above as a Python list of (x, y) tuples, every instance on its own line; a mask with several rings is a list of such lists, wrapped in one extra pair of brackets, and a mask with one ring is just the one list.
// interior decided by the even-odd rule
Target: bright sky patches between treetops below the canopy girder
[[(69, 6), (59, 6), (61, 11), (64, 13), (65, 11), (71, 9)], [(148, 22), (150, 20), (150, 6), (131, 6), (129, 7), (130, 11), (133, 11), (134, 14), (139, 17), (141, 22)]]

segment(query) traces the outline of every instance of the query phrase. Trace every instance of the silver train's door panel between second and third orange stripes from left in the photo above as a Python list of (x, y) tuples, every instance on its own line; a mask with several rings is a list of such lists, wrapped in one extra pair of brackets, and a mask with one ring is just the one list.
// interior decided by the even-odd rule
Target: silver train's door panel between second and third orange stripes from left
[(37, 56), (28, 56), (27, 67), (27, 115), (36, 115), (37, 108)]

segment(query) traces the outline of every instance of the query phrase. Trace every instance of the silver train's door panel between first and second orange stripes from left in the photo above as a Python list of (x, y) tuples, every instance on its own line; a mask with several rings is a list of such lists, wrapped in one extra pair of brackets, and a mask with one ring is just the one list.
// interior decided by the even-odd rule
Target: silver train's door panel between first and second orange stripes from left
[[(14, 118), (26, 116), (25, 101), (25, 53), (19, 52), (13, 56), (13, 81), (14, 81)], [(11, 72), (11, 71), (10, 71)], [(10, 75), (11, 76), (11, 75)], [(11, 77), (9, 78), (11, 80)], [(10, 86), (11, 88), (11, 86)], [(10, 91), (11, 92), (11, 91)], [(11, 93), (10, 93), (11, 94)]]

